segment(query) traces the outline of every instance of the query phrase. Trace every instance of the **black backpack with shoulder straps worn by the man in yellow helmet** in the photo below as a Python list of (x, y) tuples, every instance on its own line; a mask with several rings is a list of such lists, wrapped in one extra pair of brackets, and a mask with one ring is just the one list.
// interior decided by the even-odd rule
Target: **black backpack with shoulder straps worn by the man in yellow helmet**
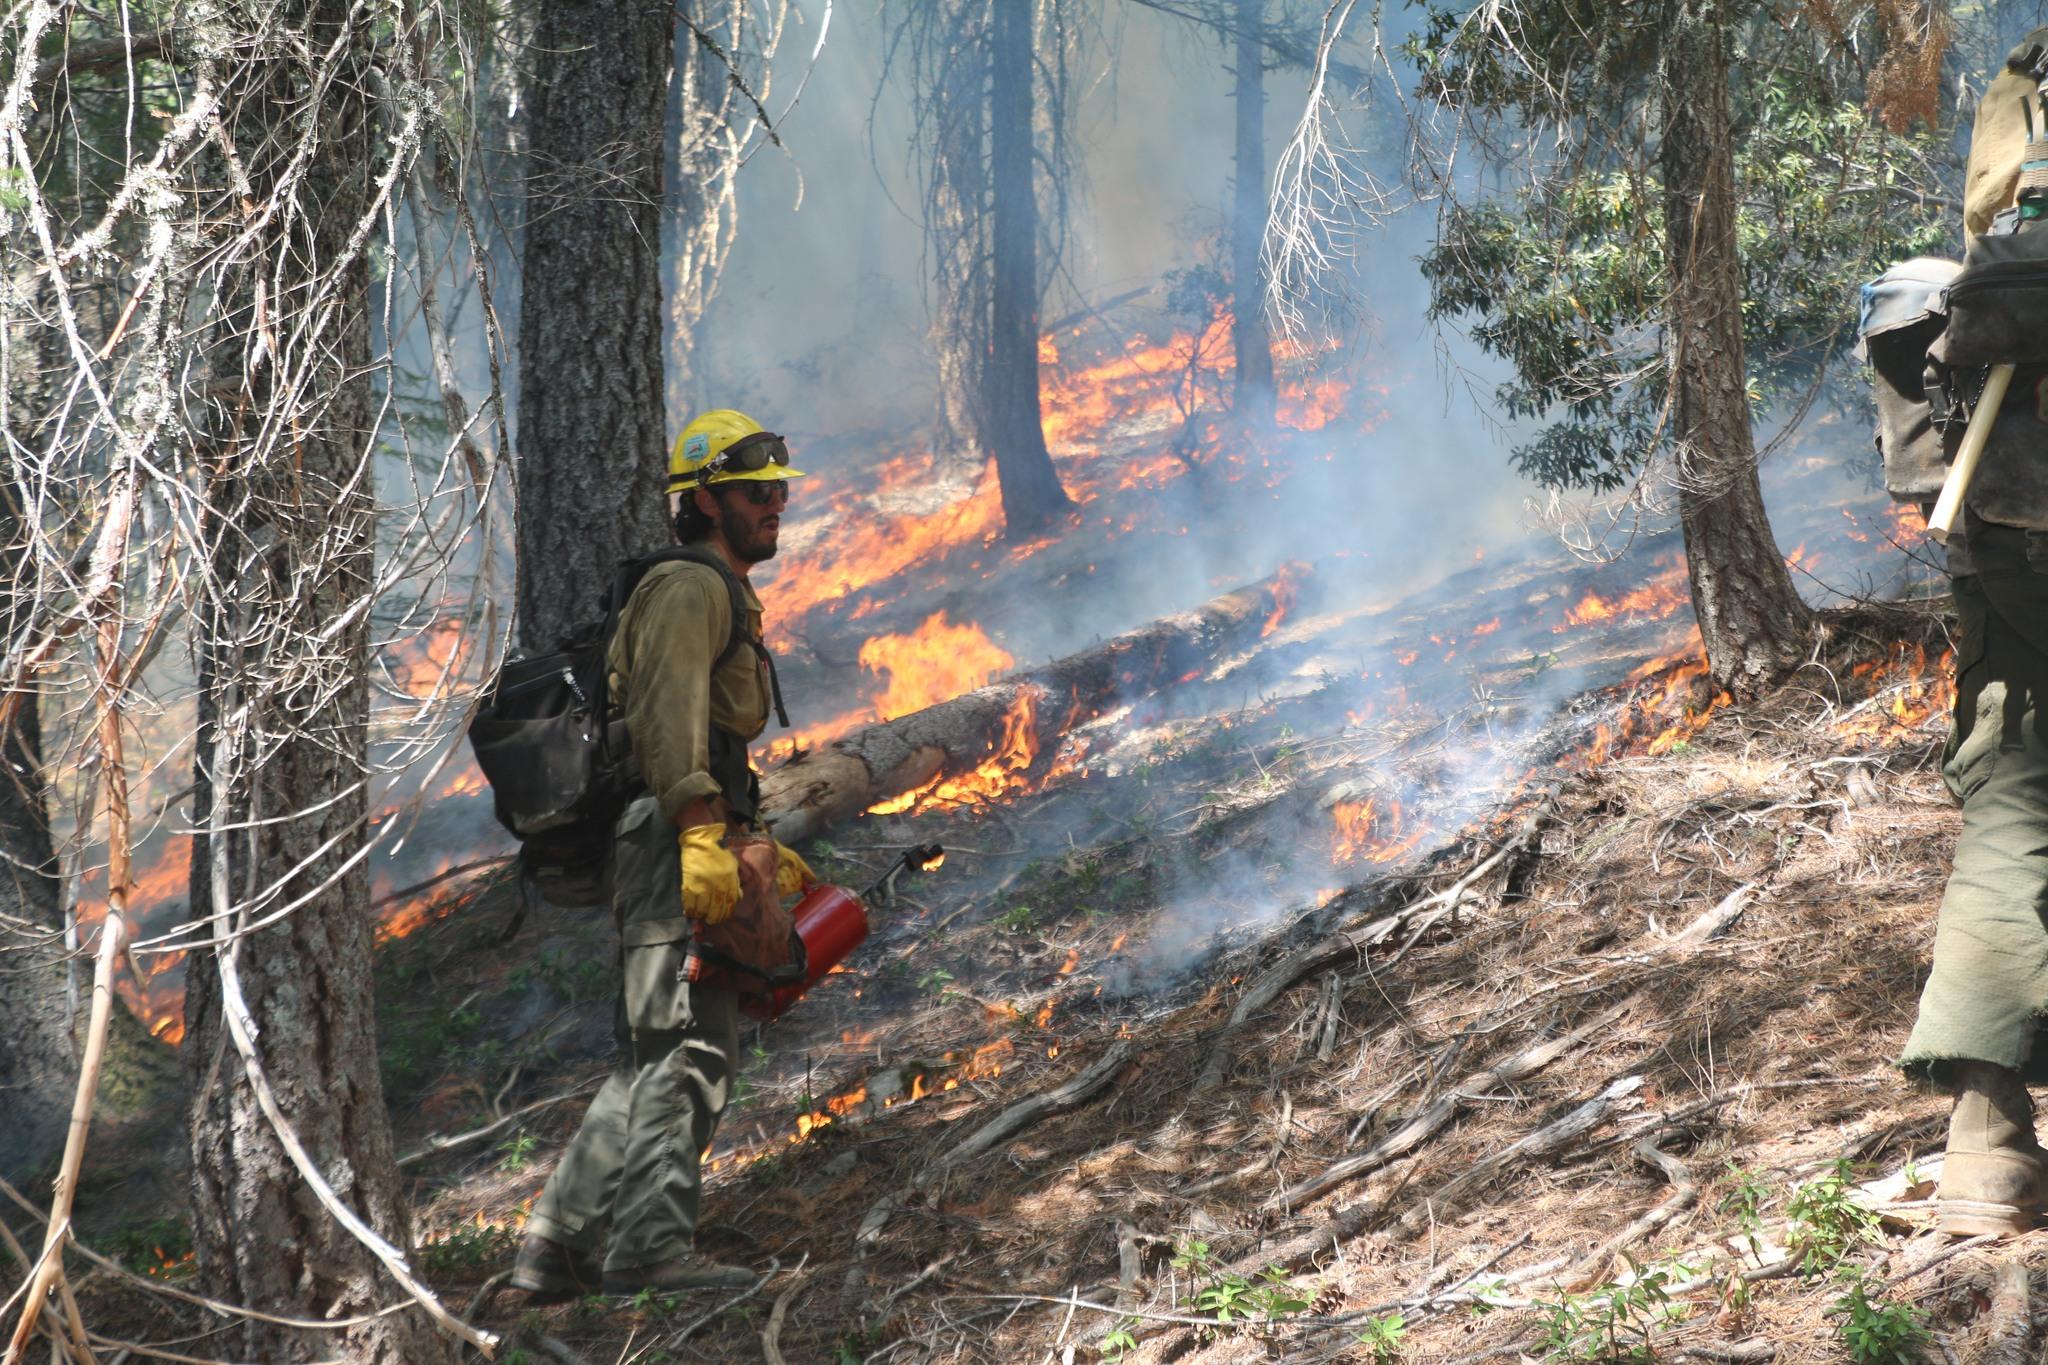
[[(563, 636), (551, 653), (514, 657), (498, 671), (469, 722), (469, 747), (492, 784), (498, 823), (518, 841), (522, 882), (563, 907), (604, 905), (610, 898), (612, 823), (641, 794), (633, 739), (610, 708), (606, 651), (618, 614), (655, 565), (690, 561), (717, 569), (733, 598), (733, 630), (709, 663), (715, 671), (741, 647), (768, 661), (768, 649), (748, 630), (739, 575), (702, 546), (670, 546), (629, 559), (612, 575), (604, 616)], [(774, 688), (782, 724), (780, 688)]]

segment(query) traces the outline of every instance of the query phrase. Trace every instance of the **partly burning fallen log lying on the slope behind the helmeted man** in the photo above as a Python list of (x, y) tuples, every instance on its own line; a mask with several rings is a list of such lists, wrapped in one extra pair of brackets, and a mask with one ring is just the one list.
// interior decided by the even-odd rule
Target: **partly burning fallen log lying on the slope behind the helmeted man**
[(1081, 720), (1202, 669), (1270, 622), (1294, 598), (1300, 569), (1280, 573), (1118, 634), (1038, 669), (1012, 673), (950, 702), (870, 724), (799, 753), (762, 776), (762, 812), (782, 843), (801, 843), (877, 802), (973, 772), (1026, 749), (1051, 763)]

